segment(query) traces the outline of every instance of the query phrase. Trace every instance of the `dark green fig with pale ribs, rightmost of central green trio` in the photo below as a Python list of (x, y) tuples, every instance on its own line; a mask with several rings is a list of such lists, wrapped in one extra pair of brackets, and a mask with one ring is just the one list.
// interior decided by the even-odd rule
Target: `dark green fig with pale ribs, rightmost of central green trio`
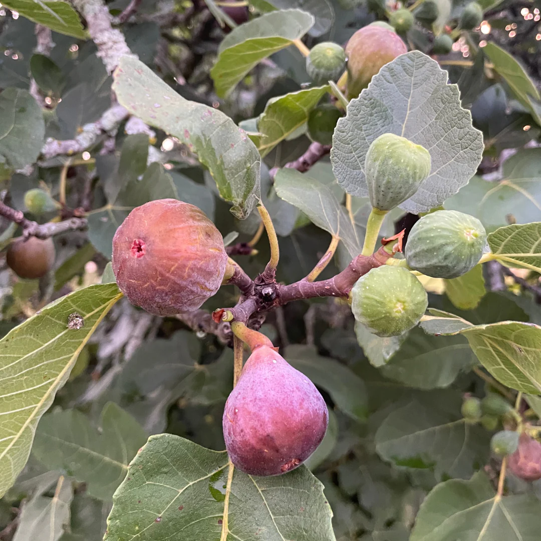
[(485, 243), (485, 228), (477, 218), (457, 210), (437, 210), (412, 227), (406, 261), (414, 271), (432, 278), (457, 278), (477, 265)]

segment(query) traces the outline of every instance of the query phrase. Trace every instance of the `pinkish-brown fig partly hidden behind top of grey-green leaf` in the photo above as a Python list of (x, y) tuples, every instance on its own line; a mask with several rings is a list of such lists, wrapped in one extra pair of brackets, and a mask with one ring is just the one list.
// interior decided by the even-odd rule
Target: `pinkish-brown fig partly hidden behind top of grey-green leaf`
[(356, 98), (385, 64), (405, 52), (394, 31), (373, 24), (357, 30), (346, 45), (348, 98)]

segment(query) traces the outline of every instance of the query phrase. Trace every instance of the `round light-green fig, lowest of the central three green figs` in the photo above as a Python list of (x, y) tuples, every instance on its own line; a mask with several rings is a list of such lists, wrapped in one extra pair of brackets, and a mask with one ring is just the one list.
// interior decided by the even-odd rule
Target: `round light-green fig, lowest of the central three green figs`
[(349, 295), (355, 319), (379, 337), (409, 331), (428, 305), (423, 284), (405, 268), (388, 265), (361, 276)]

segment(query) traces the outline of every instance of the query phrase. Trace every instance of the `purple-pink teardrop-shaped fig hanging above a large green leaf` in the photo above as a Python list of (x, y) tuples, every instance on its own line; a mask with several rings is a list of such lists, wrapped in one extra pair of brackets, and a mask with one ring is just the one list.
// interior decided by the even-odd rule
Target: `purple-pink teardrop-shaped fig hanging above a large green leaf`
[(328, 412), (314, 384), (274, 351), (254, 349), (223, 412), (232, 463), (256, 476), (302, 464), (325, 436)]

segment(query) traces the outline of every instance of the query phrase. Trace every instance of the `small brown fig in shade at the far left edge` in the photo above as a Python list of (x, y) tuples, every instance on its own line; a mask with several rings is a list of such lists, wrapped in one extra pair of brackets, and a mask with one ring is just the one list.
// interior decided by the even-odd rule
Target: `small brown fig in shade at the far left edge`
[(42, 278), (55, 262), (55, 245), (52, 239), (19, 237), (11, 242), (6, 253), (6, 263), (19, 278)]

